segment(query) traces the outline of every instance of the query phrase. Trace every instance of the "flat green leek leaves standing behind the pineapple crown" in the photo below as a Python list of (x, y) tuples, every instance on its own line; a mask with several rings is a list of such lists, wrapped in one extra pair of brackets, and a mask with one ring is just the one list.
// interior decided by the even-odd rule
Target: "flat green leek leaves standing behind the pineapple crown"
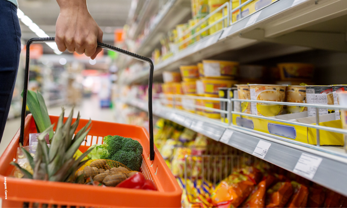
[[(23, 97), (23, 92), (22, 92)], [(45, 129), (52, 125), (51, 120), (48, 115), (47, 107), (42, 97), (42, 94), (37, 91), (28, 90), (26, 104), (29, 108), (31, 114), (33, 114), (38, 133), (43, 132)], [(49, 139), (53, 137), (53, 129), (49, 132)]]

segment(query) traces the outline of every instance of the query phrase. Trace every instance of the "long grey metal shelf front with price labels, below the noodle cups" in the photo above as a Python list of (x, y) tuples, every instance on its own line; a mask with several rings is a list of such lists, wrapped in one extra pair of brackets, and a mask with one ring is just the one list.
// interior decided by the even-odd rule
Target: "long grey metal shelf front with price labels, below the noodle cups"
[[(131, 99), (124, 102), (143, 111), (148, 111), (148, 105), (144, 101)], [(294, 171), (303, 153), (321, 158), (322, 162), (313, 178), (306, 178), (347, 196), (347, 181), (345, 180), (347, 156), (339, 147), (317, 147), (303, 143), (298, 145), (299, 142), (293, 140), (234, 125), (228, 126), (218, 120), (167, 108), (159, 104), (153, 105), (153, 114), (249, 154), (253, 154), (259, 141), (268, 142), (271, 146), (264, 160), (291, 172)]]

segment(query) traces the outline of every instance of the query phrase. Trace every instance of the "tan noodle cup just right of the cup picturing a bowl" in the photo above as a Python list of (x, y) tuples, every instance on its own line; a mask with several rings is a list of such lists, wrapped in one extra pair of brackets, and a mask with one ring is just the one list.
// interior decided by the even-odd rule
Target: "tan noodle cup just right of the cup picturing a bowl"
[[(306, 87), (305, 86), (288, 86), (286, 89), (286, 102), (289, 103), (306, 103)], [(288, 113), (299, 113), (307, 111), (307, 107), (303, 106), (286, 106)]]

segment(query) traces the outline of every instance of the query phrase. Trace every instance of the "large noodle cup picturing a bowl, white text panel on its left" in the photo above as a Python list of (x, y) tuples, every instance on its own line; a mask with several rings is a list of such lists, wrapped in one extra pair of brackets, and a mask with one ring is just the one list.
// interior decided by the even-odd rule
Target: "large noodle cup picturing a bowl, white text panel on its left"
[[(249, 85), (251, 100), (285, 101), (286, 86), (283, 85)], [(251, 113), (254, 115), (275, 116), (281, 113), (283, 105), (251, 103)]]

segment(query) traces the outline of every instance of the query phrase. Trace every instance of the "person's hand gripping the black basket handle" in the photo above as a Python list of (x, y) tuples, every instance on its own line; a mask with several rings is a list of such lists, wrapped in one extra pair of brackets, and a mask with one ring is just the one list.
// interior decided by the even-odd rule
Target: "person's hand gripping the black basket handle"
[[(55, 40), (59, 51), (67, 49), (70, 53), (85, 53), (87, 57), (95, 59), (102, 50), (97, 46), (98, 42), (102, 43), (103, 32), (89, 14), (85, 0), (57, 2), (60, 14), (56, 23)], [(78, 2), (81, 4), (77, 4)]]

